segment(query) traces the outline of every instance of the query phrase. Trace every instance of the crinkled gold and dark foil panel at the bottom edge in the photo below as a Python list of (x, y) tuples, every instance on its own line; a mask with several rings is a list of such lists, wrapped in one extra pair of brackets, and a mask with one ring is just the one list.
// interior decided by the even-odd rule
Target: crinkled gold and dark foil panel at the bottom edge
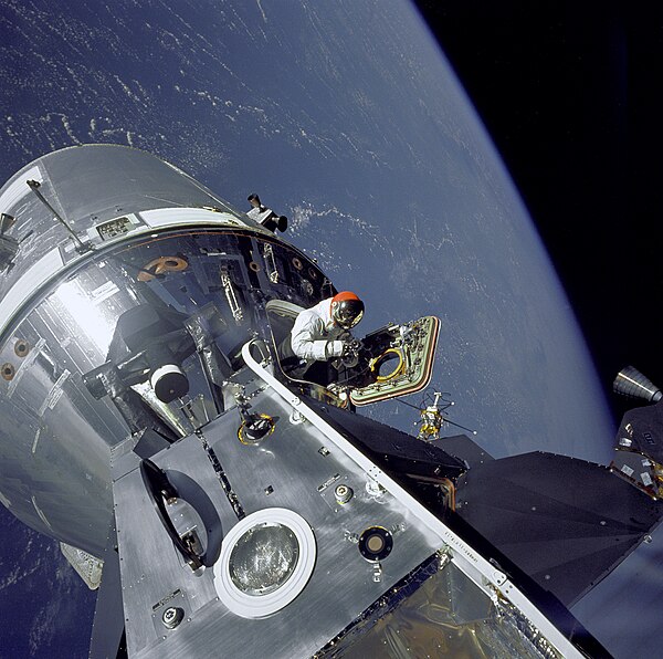
[(440, 567), (433, 559), (364, 611), (315, 657), (561, 656), (513, 605), (497, 594), (488, 597), (453, 563)]

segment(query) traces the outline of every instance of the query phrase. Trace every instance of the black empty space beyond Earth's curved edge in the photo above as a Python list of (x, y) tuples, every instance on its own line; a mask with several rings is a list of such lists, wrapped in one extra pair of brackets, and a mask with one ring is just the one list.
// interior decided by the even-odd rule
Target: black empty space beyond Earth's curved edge
[(417, 4), (520, 191), (620, 418), (633, 406), (611, 393), (620, 368), (663, 387), (663, 12), (612, 0)]

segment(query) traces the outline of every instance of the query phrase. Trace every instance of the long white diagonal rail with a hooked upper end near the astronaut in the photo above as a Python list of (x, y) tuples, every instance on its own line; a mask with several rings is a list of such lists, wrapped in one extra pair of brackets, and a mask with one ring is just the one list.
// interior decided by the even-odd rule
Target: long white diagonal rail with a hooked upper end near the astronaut
[(266, 359), (259, 363), (251, 354), (251, 348), (257, 344), (252, 338), (242, 346), (242, 358), (246, 366), (278, 394), (287, 405), (315, 426), (334, 444), (351, 458), (366, 473), (396, 496), (415, 517), (431, 531), (442, 537), (443, 543), (450, 546), (452, 562), (488, 597), (499, 595), (506, 597), (535, 625), (546, 638), (562, 653), (564, 657), (582, 657), (571, 641), (564, 636), (550, 620), (515, 586), (506, 575), (496, 569), (481, 554), (475, 552), (459, 535), (441, 522), (433, 513), (422, 506), (407, 490), (401, 488), (388, 474), (371, 462), (361, 451), (345, 439), (332, 425), (309, 408), (295, 393), (291, 391), (283, 383), (276, 379), (266, 368)]

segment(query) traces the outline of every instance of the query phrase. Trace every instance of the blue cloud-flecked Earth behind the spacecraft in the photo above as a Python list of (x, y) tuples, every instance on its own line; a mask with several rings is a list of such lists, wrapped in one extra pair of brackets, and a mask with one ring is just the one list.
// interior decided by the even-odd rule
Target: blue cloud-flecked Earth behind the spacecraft
[[(565, 292), (413, 6), (4, 0), (0, 25), (0, 181), (54, 149), (116, 143), (240, 209), (259, 192), (288, 216), (285, 238), (366, 301), (358, 330), (440, 317), (433, 385), (490, 453), (610, 461), (613, 423)], [(366, 414), (415, 420), (398, 402)], [(0, 657), (86, 656), (94, 594), (4, 508), (0, 527)], [(662, 541), (575, 611), (615, 656), (654, 651), (660, 599), (636, 579)]]

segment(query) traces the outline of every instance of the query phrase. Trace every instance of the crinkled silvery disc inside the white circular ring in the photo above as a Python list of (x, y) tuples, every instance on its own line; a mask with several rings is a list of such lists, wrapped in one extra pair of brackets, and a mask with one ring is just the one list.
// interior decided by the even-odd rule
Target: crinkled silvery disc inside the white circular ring
[(291, 529), (264, 522), (250, 529), (230, 555), (230, 578), (242, 593), (267, 595), (292, 576), (299, 543)]

